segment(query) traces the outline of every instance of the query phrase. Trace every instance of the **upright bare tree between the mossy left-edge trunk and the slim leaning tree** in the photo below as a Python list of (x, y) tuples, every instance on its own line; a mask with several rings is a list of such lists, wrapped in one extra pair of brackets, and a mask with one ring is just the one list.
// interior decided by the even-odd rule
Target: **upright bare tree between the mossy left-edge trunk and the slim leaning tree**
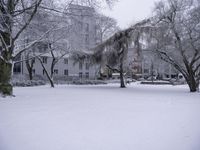
[[(43, 5), (44, 4), (42, 4), (41, 7)], [(48, 3), (45, 6), (56, 10), (56, 6), (53, 3)], [(63, 38), (63, 34), (65, 33), (66, 28), (62, 27), (62, 24), (65, 24), (65, 26), (67, 26), (68, 24), (66, 20), (67, 18), (63, 18), (62, 14), (60, 13), (57, 14), (55, 11), (51, 12), (48, 9), (39, 9), (29, 27), (26, 28), (23, 34), (25, 41), (33, 41), (34, 39), (37, 39), (41, 33), (44, 34), (51, 28), (54, 28), (51, 32), (46, 34), (45, 38), (42, 41), (35, 43), (30, 49), (23, 53), (23, 55), (25, 55), (26, 68), (30, 80), (33, 79), (33, 66), (35, 62), (35, 57), (37, 57), (36, 53), (39, 57), (39, 55), (42, 55), (43, 53), (52, 52), (52, 49), (50, 48), (51, 46), (47, 45), (55, 45), (55, 42), (58, 42), (58, 40), (52, 41), (52, 37), (54, 36), (59, 36), (59, 39)], [(53, 57), (53, 60), (54, 59), (55, 57)]]

